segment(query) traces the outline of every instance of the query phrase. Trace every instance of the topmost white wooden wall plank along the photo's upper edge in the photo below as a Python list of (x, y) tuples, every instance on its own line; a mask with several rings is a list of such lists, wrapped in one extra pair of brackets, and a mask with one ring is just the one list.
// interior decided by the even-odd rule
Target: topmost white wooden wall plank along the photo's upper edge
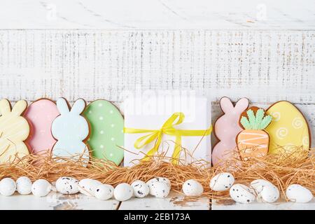
[(314, 8), (312, 0), (4, 0), (0, 29), (315, 29)]

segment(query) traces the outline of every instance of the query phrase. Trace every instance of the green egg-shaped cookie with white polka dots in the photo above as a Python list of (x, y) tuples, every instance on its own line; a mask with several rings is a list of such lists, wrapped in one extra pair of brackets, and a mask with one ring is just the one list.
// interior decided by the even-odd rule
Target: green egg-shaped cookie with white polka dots
[(111, 102), (99, 99), (87, 106), (83, 116), (90, 123), (91, 134), (87, 144), (92, 156), (119, 165), (124, 157), (123, 149), (118, 147), (124, 143), (124, 119), (120, 111)]

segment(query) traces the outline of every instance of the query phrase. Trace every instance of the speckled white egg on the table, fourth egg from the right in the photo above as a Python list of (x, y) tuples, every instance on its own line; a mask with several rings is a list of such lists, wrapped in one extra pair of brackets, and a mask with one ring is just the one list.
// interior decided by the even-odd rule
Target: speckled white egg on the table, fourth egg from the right
[(232, 197), (232, 200), (235, 200), (235, 202), (242, 204), (249, 204), (255, 201), (255, 193), (244, 184), (233, 185), (232, 188), (230, 188), (230, 197)]

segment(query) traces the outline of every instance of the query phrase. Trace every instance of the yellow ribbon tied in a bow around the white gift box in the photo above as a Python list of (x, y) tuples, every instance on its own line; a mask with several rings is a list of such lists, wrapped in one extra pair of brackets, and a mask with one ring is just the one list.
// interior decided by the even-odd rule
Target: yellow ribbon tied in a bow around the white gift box
[[(137, 133), (150, 133), (145, 135), (144, 137), (140, 137), (135, 141), (134, 147), (137, 149), (140, 149), (147, 144), (150, 144), (152, 141), (155, 141), (155, 144), (153, 148), (151, 148), (148, 153), (146, 153), (148, 156), (154, 155), (161, 144), (162, 136), (163, 134), (168, 134), (171, 136), (175, 136), (175, 147), (174, 152), (172, 155), (172, 162), (178, 163), (179, 162), (179, 155), (181, 152), (181, 137), (182, 136), (207, 136), (211, 134), (212, 126), (209, 127), (207, 130), (176, 130), (174, 125), (179, 125), (183, 123), (183, 120), (185, 118), (185, 115), (181, 112), (173, 113), (167, 121), (162, 125), (160, 130), (144, 130), (144, 129), (136, 129), (136, 128), (129, 128), (124, 127), (124, 132), (129, 134), (137, 134)], [(176, 121), (177, 120), (177, 121)], [(144, 158), (146, 160), (146, 158)]]

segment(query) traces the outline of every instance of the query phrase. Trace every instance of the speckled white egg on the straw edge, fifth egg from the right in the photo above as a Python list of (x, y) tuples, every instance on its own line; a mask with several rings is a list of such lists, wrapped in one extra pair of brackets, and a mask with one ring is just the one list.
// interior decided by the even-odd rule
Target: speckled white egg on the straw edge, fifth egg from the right
[(232, 187), (235, 179), (230, 173), (221, 173), (214, 176), (210, 181), (210, 188), (216, 191), (228, 190)]

